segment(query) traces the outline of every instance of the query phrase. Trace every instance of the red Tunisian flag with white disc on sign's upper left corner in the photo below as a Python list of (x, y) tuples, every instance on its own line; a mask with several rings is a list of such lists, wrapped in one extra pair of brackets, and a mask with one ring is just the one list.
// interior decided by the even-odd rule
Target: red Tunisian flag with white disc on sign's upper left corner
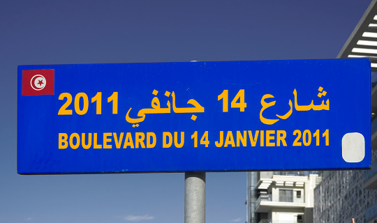
[(22, 70), (22, 95), (54, 95), (54, 70)]

